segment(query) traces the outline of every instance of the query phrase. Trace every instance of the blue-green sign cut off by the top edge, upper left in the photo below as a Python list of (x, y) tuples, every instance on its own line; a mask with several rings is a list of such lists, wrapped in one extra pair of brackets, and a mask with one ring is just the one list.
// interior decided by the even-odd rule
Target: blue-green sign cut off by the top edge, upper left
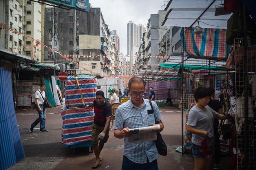
[(53, 4), (61, 5), (62, 7), (73, 8), (79, 11), (89, 11), (89, 0), (42, 0)]

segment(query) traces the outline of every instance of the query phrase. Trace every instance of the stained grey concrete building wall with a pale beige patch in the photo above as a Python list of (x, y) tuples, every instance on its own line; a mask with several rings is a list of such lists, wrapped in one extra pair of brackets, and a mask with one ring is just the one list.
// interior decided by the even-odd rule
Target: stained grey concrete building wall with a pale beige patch
[[(55, 8), (55, 13), (58, 13), (59, 52), (64, 55), (73, 54), (75, 47), (74, 45), (69, 45), (69, 41), (73, 41), (73, 44), (75, 44), (75, 10)], [(76, 27), (80, 55), (101, 54), (100, 13), (100, 8), (90, 8), (89, 13), (77, 11), (78, 24)], [(53, 28), (53, 21), (49, 21), (49, 15), (53, 15), (53, 8), (46, 8), (45, 10), (45, 44), (48, 46), (50, 46), (49, 41), (52, 40), (52, 33), (49, 33), (49, 28)], [(69, 20), (69, 16), (73, 16), (73, 20)], [(73, 33), (69, 32), (69, 28), (73, 28)], [(45, 49), (44, 58), (46, 60), (48, 60), (49, 52), (51, 51)]]

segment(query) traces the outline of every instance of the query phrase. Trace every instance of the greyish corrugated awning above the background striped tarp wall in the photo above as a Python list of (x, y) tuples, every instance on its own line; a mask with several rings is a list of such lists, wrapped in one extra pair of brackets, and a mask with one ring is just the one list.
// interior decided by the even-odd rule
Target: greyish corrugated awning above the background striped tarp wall
[(172, 78), (178, 76), (177, 72), (170, 72), (170, 71), (158, 71), (158, 70), (140, 70), (138, 77), (141, 77), (145, 80), (152, 78), (159, 79), (159, 78)]

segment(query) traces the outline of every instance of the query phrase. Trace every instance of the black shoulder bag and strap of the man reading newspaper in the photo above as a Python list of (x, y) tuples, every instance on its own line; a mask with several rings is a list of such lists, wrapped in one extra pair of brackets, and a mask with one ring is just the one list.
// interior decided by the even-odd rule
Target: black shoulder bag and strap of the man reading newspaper
[[(153, 113), (154, 113), (154, 118), (155, 118), (155, 111), (154, 111), (154, 108), (152, 106), (152, 102), (151, 100), (149, 100), (149, 104), (151, 106), (151, 109), (153, 110)], [(155, 123), (157, 123), (157, 121), (155, 120)], [(162, 156), (166, 156), (167, 155), (167, 146), (165, 145), (165, 141), (163, 140), (160, 132), (157, 132), (156, 133), (156, 136), (157, 136), (157, 139), (155, 141), (155, 146), (157, 148), (157, 151), (160, 155)]]

